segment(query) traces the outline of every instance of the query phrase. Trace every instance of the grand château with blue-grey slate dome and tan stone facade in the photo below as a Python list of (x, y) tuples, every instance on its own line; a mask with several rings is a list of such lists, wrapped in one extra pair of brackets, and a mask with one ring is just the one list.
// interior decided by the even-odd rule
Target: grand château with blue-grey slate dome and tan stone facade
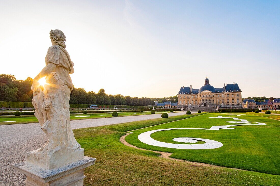
[(241, 89), (237, 83), (224, 84), (224, 87), (214, 88), (206, 77), (205, 84), (200, 89), (181, 87), (178, 92), (178, 107), (242, 107)]

